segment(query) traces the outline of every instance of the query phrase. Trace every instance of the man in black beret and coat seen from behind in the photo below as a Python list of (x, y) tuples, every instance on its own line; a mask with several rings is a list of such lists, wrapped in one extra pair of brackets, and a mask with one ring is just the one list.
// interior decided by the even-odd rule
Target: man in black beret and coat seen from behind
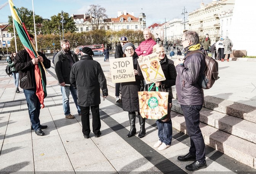
[(70, 83), (77, 89), (77, 104), (81, 108), (83, 136), (90, 138), (90, 108), (93, 115), (93, 133), (96, 138), (101, 135), (101, 119), (99, 104), (101, 103), (100, 89), (104, 98), (108, 96), (107, 80), (101, 65), (93, 60), (94, 53), (89, 47), (83, 47), (82, 56), (71, 69)]

